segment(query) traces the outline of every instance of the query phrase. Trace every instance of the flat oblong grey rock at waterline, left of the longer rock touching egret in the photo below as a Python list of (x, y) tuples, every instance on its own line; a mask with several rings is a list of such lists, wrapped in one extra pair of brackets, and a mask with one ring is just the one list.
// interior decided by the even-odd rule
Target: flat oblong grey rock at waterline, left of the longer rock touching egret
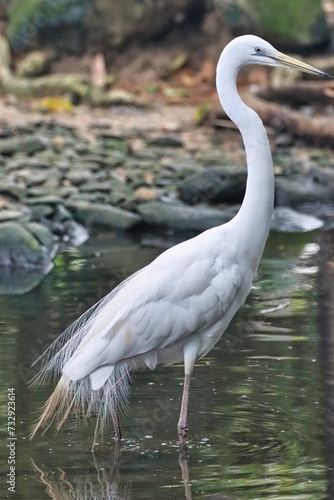
[(75, 220), (88, 228), (103, 227), (128, 231), (137, 227), (141, 222), (137, 214), (109, 205), (72, 201), (65, 203), (65, 206), (73, 214)]

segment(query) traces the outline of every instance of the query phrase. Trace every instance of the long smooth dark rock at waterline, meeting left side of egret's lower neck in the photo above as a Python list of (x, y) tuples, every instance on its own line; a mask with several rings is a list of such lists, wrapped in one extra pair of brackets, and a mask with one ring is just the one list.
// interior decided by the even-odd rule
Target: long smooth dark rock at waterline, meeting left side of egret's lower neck
[(225, 210), (189, 207), (182, 203), (149, 201), (139, 205), (138, 212), (144, 222), (159, 229), (171, 229), (185, 233), (200, 233), (214, 226), (228, 222), (239, 207)]

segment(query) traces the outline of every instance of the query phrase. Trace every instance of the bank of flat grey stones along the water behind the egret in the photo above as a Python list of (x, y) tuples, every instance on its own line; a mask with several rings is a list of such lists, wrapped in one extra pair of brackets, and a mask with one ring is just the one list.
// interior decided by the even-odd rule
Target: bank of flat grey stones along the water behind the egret
[[(17, 269), (42, 277), (59, 249), (98, 231), (186, 238), (238, 210), (246, 168), (236, 132), (196, 127), (189, 107), (104, 113), (25, 121), (23, 112), (2, 122), (0, 293), (11, 293)], [(275, 141), (272, 228), (298, 232), (330, 223), (331, 151), (291, 151), (288, 141)]]

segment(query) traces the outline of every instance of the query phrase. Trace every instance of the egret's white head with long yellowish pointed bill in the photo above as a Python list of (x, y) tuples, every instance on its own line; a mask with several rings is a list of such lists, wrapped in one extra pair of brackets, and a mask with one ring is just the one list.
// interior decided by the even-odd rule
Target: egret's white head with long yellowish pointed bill
[(282, 52), (276, 50), (270, 43), (254, 35), (244, 35), (235, 38), (226, 46), (224, 52), (225, 50), (229, 53), (230, 57), (233, 57), (234, 54), (239, 59), (239, 68), (247, 64), (287, 66), (305, 73), (332, 78), (327, 73), (313, 68), (309, 64), (282, 54)]

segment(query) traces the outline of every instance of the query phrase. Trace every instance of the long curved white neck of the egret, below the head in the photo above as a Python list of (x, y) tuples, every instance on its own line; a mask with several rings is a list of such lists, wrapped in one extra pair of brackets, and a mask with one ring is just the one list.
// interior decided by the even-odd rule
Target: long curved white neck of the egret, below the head
[[(254, 272), (268, 237), (274, 204), (274, 172), (268, 137), (259, 116), (241, 100), (236, 79), (239, 67), (223, 52), (217, 66), (217, 91), (226, 114), (239, 128), (247, 157), (247, 185), (242, 206), (231, 224), (238, 246)], [(244, 249), (244, 250), (243, 250)]]

